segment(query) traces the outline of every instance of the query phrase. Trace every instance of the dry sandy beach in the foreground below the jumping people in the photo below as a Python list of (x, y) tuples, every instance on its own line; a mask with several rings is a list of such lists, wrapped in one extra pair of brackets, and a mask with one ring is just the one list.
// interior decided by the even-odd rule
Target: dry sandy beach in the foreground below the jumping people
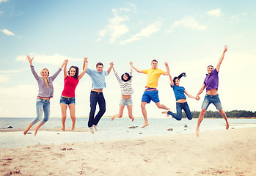
[(256, 175), (256, 128), (0, 148), (0, 175)]

